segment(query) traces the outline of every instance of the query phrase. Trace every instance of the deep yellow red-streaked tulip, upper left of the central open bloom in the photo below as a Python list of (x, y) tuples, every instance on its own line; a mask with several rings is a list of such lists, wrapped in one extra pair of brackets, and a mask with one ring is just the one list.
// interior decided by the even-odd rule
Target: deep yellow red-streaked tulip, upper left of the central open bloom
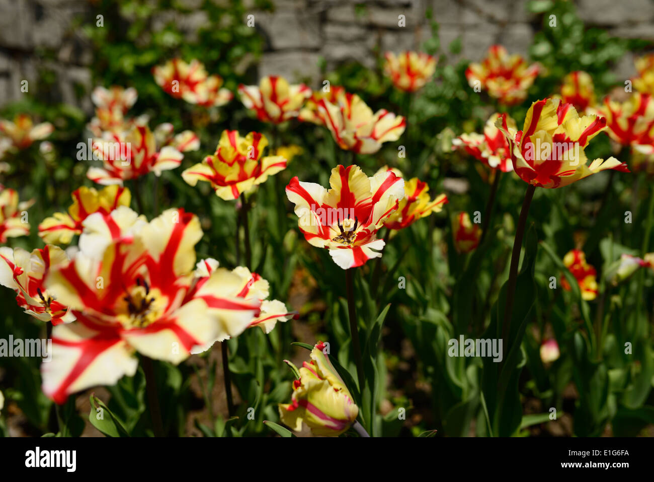
[(216, 196), (224, 200), (237, 199), (286, 168), (281, 156), (262, 157), (267, 145), (266, 136), (258, 132), (243, 138), (235, 130), (224, 130), (215, 154), (186, 169), (182, 177), (192, 186), (198, 181), (211, 183)]

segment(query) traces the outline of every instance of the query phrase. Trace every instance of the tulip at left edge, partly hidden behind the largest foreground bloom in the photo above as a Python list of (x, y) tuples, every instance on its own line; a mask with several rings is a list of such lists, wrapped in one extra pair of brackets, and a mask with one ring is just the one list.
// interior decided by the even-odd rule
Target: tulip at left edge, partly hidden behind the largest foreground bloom
[(22, 248), (0, 248), (0, 284), (16, 291), (16, 303), (25, 312), (53, 325), (75, 320), (71, 310), (52, 297), (43, 281), (60, 263), (67, 263), (66, 253), (46, 244), (31, 253)]

